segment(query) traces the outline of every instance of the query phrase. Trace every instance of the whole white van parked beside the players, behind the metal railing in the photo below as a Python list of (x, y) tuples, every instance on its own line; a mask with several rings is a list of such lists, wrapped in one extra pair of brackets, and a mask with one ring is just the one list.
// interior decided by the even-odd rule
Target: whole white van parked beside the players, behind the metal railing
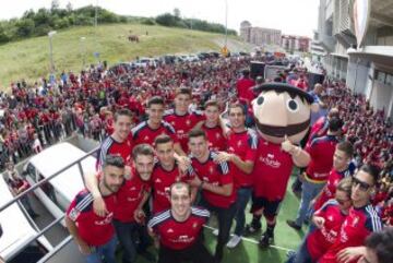
[[(68, 165), (74, 163), (86, 153), (76, 146), (63, 142), (56, 144), (33, 156), (24, 167), (26, 180), (33, 186), (44, 178), (48, 178)], [(84, 174), (94, 174), (96, 158), (88, 156), (81, 162)], [(71, 166), (43, 187), (34, 190), (39, 201), (47, 207), (55, 218), (61, 217), (75, 195), (84, 189), (78, 164)], [(63, 226), (64, 220), (62, 220)]]

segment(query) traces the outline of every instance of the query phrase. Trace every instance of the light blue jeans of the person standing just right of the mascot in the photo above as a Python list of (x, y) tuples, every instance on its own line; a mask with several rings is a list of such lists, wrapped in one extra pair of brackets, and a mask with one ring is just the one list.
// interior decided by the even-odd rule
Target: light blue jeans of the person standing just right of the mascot
[(305, 180), (301, 186), (301, 200), (296, 217), (296, 225), (302, 226), (305, 219), (310, 215), (310, 202), (321, 192), (325, 183), (314, 183)]

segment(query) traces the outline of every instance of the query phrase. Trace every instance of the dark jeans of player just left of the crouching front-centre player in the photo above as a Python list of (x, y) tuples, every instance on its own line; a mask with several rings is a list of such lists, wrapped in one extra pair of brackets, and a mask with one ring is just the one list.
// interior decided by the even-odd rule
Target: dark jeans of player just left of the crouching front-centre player
[(136, 261), (136, 240), (140, 240), (139, 248), (147, 247), (147, 237), (144, 235), (141, 225), (138, 223), (122, 223), (114, 219), (116, 234), (123, 249), (122, 262), (133, 263)]

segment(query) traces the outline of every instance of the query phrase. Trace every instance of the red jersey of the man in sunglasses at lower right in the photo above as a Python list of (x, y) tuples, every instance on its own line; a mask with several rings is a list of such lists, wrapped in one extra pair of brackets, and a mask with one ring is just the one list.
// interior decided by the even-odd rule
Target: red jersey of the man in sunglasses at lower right
[(318, 262), (338, 262), (336, 255), (342, 249), (364, 246), (365, 239), (371, 232), (380, 230), (382, 230), (382, 223), (372, 205), (369, 204), (360, 208), (350, 207), (336, 241)]

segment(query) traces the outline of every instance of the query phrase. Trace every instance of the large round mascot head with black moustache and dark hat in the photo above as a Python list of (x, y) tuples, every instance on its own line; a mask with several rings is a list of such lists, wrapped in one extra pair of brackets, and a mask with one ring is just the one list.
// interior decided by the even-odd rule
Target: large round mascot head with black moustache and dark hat
[(257, 130), (272, 143), (282, 143), (287, 136), (299, 143), (310, 127), (313, 98), (298, 87), (284, 83), (266, 83), (254, 87), (259, 93), (252, 101)]

